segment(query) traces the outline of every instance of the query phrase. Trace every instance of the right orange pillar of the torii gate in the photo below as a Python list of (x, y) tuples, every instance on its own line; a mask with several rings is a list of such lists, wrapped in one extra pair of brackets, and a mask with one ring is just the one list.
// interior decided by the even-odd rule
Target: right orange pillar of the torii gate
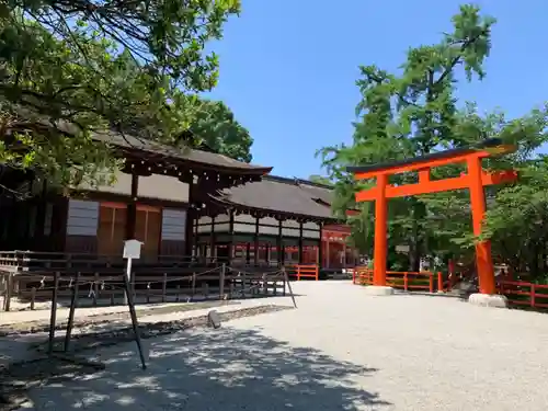
[[(481, 181), (481, 159), (470, 157), (468, 159), (468, 178), (470, 180), (470, 205), (472, 209), (473, 235), (481, 235), (481, 224), (486, 215), (486, 194)], [(481, 294), (494, 294), (494, 270), (491, 259), (491, 241), (479, 241), (476, 243), (476, 266), (478, 270), (478, 283)]]

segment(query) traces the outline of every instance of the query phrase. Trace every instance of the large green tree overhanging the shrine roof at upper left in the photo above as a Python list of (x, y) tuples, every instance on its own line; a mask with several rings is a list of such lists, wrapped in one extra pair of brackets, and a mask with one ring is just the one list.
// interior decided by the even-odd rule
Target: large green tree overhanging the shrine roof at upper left
[(196, 94), (217, 81), (205, 45), (239, 9), (239, 0), (2, 2), (0, 163), (70, 185), (119, 167), (93, 141), (98, 130), (180, 145), (202, 112)]

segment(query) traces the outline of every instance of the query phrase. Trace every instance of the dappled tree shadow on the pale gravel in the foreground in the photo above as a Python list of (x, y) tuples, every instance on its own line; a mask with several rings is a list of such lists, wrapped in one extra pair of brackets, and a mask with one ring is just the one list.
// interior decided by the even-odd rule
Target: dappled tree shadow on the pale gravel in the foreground
[(34, 409), (352, 411), (390, 404), (354, 384), (376, 369), (260, 331), (193, 329), (145, 343), (150, 344), (147, 370), (139, 368), (134, 344), (103, 349), (99, 359), (105, 370), (32, 390)]

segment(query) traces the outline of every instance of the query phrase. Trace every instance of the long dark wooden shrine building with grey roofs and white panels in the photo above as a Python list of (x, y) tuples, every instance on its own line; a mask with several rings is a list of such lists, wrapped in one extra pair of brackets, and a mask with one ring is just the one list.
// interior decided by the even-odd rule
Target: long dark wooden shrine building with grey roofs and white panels
[(213, 152), (117, 134), (95, 138), (126, 159), (112, 186), (81, 185), (69, 198), (39, 178), (0, 173), (4, 186), (27, 192), (25, 201), (0, 195), (0, 250), (115, 256), (125, 239), (137, 238), (149, 262), (329, 267), (357, 258), (344, 246), (346, 228), (331, 216), (328, 186), (271, 176), (272, 168)]

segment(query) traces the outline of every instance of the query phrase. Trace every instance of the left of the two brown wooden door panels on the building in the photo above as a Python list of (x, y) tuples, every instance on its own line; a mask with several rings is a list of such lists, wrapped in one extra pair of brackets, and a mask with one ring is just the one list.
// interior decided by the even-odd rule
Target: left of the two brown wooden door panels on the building
[(99, 210), (98, 254), (122, 256), (126, 231), (125, 204), (102, 203)]

